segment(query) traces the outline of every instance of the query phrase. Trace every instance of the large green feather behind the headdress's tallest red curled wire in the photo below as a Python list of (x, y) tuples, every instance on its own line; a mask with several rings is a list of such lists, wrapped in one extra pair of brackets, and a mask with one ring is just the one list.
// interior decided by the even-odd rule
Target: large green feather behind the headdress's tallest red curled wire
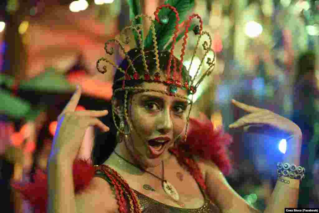
[[(180, 21), (179, 24), (185, 19), (189, 11), (194, 7), (194, 0), (167, 0), (165, 4), (169, 4), (176, 8), (178, 11)], [(175, 13), (169, 8), (162, 8), (159, 11), (159, 18), (167, 16), (169, 18), (168, 24), (160, 24), (155, 21), (155, 32), (157, 37), (157, 44), (159, 50), (163, 50), (167, 42), (173, 37), (175, 31)], [(153, 46), (152, 31), (149, 31), (145, 39), (145, 48), (151, 48)]]

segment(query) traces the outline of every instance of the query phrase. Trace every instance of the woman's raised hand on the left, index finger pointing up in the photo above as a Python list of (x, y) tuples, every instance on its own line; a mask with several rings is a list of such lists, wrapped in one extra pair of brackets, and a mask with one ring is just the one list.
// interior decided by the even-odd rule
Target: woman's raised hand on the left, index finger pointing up
[(102, 131), (107, 132), (108, 126), (103, 124), (98, 117), (108, 114), (107, 110), (82, 110), (75, 111), (82, 89), (74, 92), (69, 103), (58, 116), (58, 124), (53, 138), (50, 160), (58, 160), (64, 163), (73, 164), (78, 152), (84, 142), (84, 135), (89, 126), (97, 126)]

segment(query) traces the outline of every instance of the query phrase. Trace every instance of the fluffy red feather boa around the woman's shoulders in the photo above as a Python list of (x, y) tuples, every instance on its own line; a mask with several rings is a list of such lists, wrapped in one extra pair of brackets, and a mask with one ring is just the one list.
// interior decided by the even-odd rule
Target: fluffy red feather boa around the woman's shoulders
[[(230, 160), (227, 154), (227, 145), (232, 142), (229, 134), (222, 129), (214, 130), (213, 124), (208, 118), (199, 121), (189, 118), (189, 130), (187, 140), (179, 144), (178, 153), (180, 156), (197, 155), (204, 159), (212, 160), (219, 169), (228, 174), (231, 170)], [(196, 174), (195, 177), (199, 177)], [(198, 171), (197, 171), (198, 172)], [(77, 159), (73, 164), (73, 180), (75, 193), (79, 193), (90, 184), (95, 173), (95, 168), (87, 160)], [(45, 213), (48, 203), (48, 177), (41, 170), (33, 175), (34, 182), (21, 184), (14, 182), (13, 188), (20, 191), (24, 198), (34, 207), (35, 213)], [(198, 181), (200, 181), (198, 179)], [(204, 186), (204, 180), (200, 181)]]

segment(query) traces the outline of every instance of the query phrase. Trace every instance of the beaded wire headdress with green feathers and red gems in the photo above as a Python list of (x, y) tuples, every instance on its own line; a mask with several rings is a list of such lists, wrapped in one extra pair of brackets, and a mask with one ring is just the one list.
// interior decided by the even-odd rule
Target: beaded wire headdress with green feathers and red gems
[[(122, 72), (122, 77), (115, 80), (115, 84), (117, 82), (121, 82), (122, 87), (115, 89), (113, 91), (113, 94), (125, 91), (124, 107), (126, 121), (128, 121), (128, 115), (126, 112), (128, 92), (146, 92), (146, 90), (140, 86), (128, 85), (128, 82), (132, 80), (165, 84), (168, 86), (166, 91), (150, 89), (148, 89), (147, 91), (177, 96), (188, 100), (189, 104), (192, 106), (193, 95), (196, 93), (198, 85), (206, 76), (209, 76), (211, 74), (215, 66), (215, 54), (213, 54), (213, 58), (207, 57), (208, 53), (214, 52), (211, 49), (212, 40), (210, 34), (206, 31), (203, 31), (203, 21), (201, 17), (198, 14), (192, 14), (188, 18), (186, 18), (189, 11), (194, 6), (194, 0), (165, 1), (165, 4), (159, 6), (154, 12), (155, 20), (152, 20), (151, 17), (140, 13), (141, 10), (138, 0), (129, 0), (128, 2), (130, 5), (130, 26), (125, 27), (115, 39), (109, 40), (105, 43), (105, 51), (108, 55), (112, 55), (114, 53), (114, 48), (109, 48), (109, 45), (111, 43), (115, 43), (119, 46), (124, 55), (123, 61), (125, 63), (122, 62), (122, 64), (125, 65), (118, 66), (115, 62), (112, 62), (108, 58), (104, 57), (100, 58), (97, 62), (97, 69), (101, 73), (107, 72), (107, 66), (101, 65), (101, 62), (109, 63), (117, 69), (117, 72)], [(151, 21), (151, 27), (145, 39), (143, 38), (143, 22), (141, 20), (142, 18), (146, 18)], [(195, 25), (192, 23), (194, 18), (199, 20), (199, 25)], [(184, 31), (180, 30), (182, 25), (185, 26)], [(134, 35), (135, 42), (134, 47), (132, 47), (129, 52), (126, 52), (124, 45), (129, 45), (130, 43), (132, 43), (130, 42), (131, 39), (130, 36), (128, 36), (128, 31), (132, 32), (132, 34)], [(189, 69), (186, 70), (185, 66), (183, 66), (183, 60), (187, 47), (188, 33), (190, 31), (193, 31), (195, 35), (198, 36), (198, 38), (196, 46), (194, 50), (192, 50), (193, 54), (191, 57)], [(174, 55), (175, 44), (182, 38), (183, 43), (181, 54), (179, 55), (179, 58), (177, 58), (177, 56)], [(200, 41), (203, 42), (204, 55), (202, 56), (201, 63), (197, 69), (195, 76), (191, 77), (189, 75), (189, 70), (194, 57), (197, 54)], [(134, 51), (133, 54), (131, 53), (132, 49)], [(167, 67), (163, 68), (162, 64), (160, 64), (160, 58), (168, 60)], [(208, 68), (201, 73), (201, 77), (195, 83), (194, 80), (197, 78), (199, 71), (202, 69), (204, 60), (206, 60), (205, 63), (208, 65)], [(144, 69), (136, 69), (136, 66), (140, 66), (141, 64), (143, 64)], [(149, 69), (150, 67), (152, 67), (152, 69)], [(163, 73), (163, 70), (166, 70), (166, 73)], [(189, 99), (187, 96), (178, 95), (178, 88), (187, 90), (188, 94), (192, 95), (191, 99)], [(115, 110), (113, 109), (113, 119), (115, 122), (115, 126), (117, 127), (119, 132), (127, 134), (127, 132), (124, 132), (121, 128), (118, 128), (114, 111)], [(187, 116), (187, 120), (189, 120), (189, 114)]]

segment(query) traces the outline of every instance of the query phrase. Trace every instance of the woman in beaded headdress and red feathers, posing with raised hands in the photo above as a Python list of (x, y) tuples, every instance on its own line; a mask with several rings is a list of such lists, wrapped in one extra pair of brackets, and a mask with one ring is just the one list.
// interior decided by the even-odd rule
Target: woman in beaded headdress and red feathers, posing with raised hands
[[(179, 23), (179, 10), (171, 5), (160, 6), (155, 12), (156, 20), (164, 25), (172, 20), (171, 16), (161, 16), (159, 20), (163, 7), (173, 11), (170, 14)], [(186, 29), (194, 17), (199, 16), (191, 16)], [(203, 125), (189, 120), (192, 101), (188, 95), (196, 92), (198, 84), (194, 84), (182, 66), (185, 49), (179, 60), (173, 55), (174, 43), (171, 51), (161, 48), (164, 45), (160, 39), (158, 46), (153, 42), (154, 48), (146, 48), (147, 45), (144, 48), (139, 28), (131, 28), (137, 32), (140, 48), (130, 50), (121, 65), (116, 66), (113, 86), (112, 113), (119, 143), (110, 157), (95, 167), (95, 177), (88, 186), (75, 193), (77, 184), (74, 185), (73, 179), (79, 177), (78, 173), (74, 175), (74, 167), (72, 173), (72, 165), (83, 145), (85, 130), (88, 126), (109, 130), (98, 119), (108, 111), (75, 112), (81, 96), (79, 87), (58, 118), (48, 161), (48, 212), (258, 212), (227, 184), (221, 172), (227, 172), (229, 163), (224, 146), (219, 143), (227, 143), (229, 138), (214, 132), (209, 122)], [(151, 27), (150, 38), (163, 26), (155, 28)], [(178, 27), (175, 29), (178, 31)], [(202, 26), (195, 28), (194, 33), (200, 35), (199, 39), (207, 34), (202, 32)], [(107, 44), (105, 49), (112, 54)], [(207, 41), (203, 47), (207, 52), (210, 50)], [(99, 70), (101, 61), (109, 62), (100, 59)], [(214, 66), (211, 60), (207, 63), (210, 68), (204, 77)], [(258, 124), (284, 131), (290, 136), (284, 162), (299, 165), (301, 131), (297, 125), (268, 110), (235, 100), (233, 104), (249, 114), (230, 128)], [(279, 164), (278, 173), (285, 171), (285, 176), (278, 179), (265, 212), (283, 212), (284, 208), (296, 206), (300, 180), (289, 177), (289, 172), (295, 173), (289, 168)]]

